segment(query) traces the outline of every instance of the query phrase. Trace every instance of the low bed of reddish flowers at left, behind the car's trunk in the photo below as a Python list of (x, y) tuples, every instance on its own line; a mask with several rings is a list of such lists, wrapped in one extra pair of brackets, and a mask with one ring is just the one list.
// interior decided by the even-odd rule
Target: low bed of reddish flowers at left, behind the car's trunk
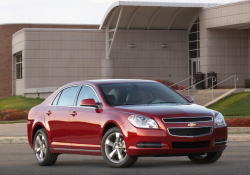
[(0, 111), (0, 121), (27, 120), (28, 110), (9, 109)]

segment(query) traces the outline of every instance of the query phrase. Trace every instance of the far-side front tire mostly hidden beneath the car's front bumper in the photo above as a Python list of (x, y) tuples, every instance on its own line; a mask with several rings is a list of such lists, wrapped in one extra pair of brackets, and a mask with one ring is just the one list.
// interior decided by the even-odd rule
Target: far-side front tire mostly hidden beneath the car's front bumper
[(214, 152), (214, 153), (207, 153), (205, 156), (188, 156), (188, 158), (194, 163), (206, 164), (206, 163), (216, 162), (221, 155), (222, 152)]

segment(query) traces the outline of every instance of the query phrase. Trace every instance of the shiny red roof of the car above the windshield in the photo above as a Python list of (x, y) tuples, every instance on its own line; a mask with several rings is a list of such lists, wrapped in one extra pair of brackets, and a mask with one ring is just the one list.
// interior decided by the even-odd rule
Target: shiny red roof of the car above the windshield
[(146, 82), (155, 82), (153, 80), (137, 80), (137, 79), (99, 79), (99, 80), (86, 80), (86, 81), (76, 81), (70, 84), (85, 84), (85, 83), (94, 83), (94, 84), (113, 84), (113, 83), (146, 83)]

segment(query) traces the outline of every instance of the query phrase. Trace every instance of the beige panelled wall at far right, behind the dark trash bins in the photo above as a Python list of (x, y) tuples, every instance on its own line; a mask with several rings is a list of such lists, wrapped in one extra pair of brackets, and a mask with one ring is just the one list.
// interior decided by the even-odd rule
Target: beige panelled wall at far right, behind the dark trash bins
[[(248, 31), (208, 29), (201, 33), (201, 71), (218, 73), (218, 82), (237, 75), (238, 87), (244, 87), (244, 79), (249, 78)], [(233, 80), (228, 80), (220, 87), (233, 85)]]

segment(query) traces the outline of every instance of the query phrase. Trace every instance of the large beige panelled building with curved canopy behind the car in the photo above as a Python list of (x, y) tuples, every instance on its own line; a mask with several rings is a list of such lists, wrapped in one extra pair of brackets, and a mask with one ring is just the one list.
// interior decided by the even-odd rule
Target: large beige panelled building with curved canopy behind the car
[[(218, 74), (218, 82), (237, 75), (237, 87), (249, 79), (250, 1), (119, 1), (107, 10), (99, 29), (94, 28), (23, 26), (12, 36), (12, 59), (6, 59), (12, 64), (12, 86), (6, 79), (6, 89), (12, 87), (12, 95), (45, 98), (83, 79), (178, 82), (210, 71)], [(219, 85), (232, 87), (232, 78)]]

